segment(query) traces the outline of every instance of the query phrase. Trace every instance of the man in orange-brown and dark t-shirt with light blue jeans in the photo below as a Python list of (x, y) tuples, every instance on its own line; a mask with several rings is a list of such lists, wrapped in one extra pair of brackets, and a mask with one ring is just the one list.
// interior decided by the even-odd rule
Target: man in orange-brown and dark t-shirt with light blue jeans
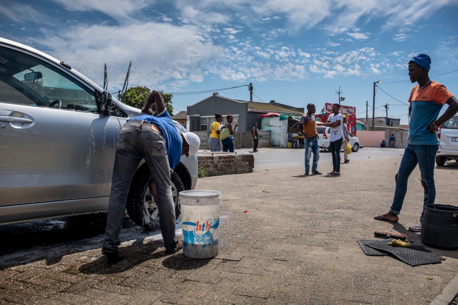
[(312, 163), (312, 174), (321, 175), (318, 171), (318, 160), (320, 158), (318, 145), (318, 132), (316, 131), (316, 121), (315, 121), (315, 105), (312, 103), (307, 104), (307, 113), (299, 120), (298, 131), (304, 134), (304, 165), (305, 165), (305, 176), (309, 175), (310, 170), (310, 157), (313, 153), (313, 163)]

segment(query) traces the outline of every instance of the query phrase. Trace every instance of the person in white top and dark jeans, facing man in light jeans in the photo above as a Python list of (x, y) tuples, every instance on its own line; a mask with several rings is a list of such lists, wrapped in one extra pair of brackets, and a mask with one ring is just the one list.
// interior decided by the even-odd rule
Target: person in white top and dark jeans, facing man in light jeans
[(339, 113), (340, 105), (332, 104), (332, 114), (329, 115), (325, 126), (330, 127), (331, 136), (329, 142), (331, 142), (331, 154), (332, 154), (332, 172), (328, 175), (340, 176), (340, 148), (342, 147), (342, 141), (344, 140), (344, 133), (342, 131), (342, 122), (344, 117), (342, 113)]

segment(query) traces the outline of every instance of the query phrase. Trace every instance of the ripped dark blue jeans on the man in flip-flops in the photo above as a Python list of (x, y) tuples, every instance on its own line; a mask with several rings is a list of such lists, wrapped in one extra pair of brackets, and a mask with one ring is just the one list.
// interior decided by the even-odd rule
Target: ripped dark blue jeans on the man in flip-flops
[[(413, 169), (418, 164), (421, 174), (421, 185), (424, 190), (424, 205), (434, 204), (436, 199), (436, 186), (434, 185), (434, 162), (438, 145), (410, 145), (407, 144), (404, 150), (401, 165), (395, 176), (396, 190), (391, 205), (390, 212), (399, 214), (403, 207), (404, 198), (407, 192), (407, 180)], [(423, 220), (423, 211), (421, 212), (420, 221)]]

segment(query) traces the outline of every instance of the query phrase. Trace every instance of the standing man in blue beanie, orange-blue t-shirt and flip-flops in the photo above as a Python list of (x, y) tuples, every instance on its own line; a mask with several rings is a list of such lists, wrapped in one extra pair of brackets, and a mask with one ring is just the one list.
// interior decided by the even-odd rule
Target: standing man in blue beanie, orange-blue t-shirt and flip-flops
[[(408, 177), (418, 164), (424, 190), (423, 209), (420, 221), (408, 228), (411, 232), (421, 231), (424, 207), (426, 204), (434, 204), (436, 199), (434, 162), (439, 147), (437, 130), (442, 123), (451, 119), (458, 112), (457, 98), (444, 85), (429, 79), (430, 64), (431, 58), (426, 54), (418, 54), (408, 62), (410, 81), (418, 82), (418, 85), (413, 87), (408, 99), (410, 121), (407, 147), (395, 176), (396, 189), (390, 211), (374, 216), (374, 219), (377, 220), (398, 222), (398, 215), (401, 213), (407, 193)], [(449, 107), (437, 118), (442, 106), (446, 103)]]

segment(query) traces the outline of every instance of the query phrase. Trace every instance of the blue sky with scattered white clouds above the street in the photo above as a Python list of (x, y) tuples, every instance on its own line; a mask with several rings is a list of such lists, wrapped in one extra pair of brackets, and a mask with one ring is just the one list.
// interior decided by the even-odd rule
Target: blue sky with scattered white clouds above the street
[[(431, 79), (458, 94), (457, 0), (2, 0), (0, 36), (69, 63), (111, 92), (230, 87), (219, 95), (297, 107), (356, 106), (407, 124), (407, 62), (432, 58)], [(453, 72), (455, 71), (455, 72)], [(452, 73), (449, 73), (452, 72)], [(444, 74), (446, 73), (446, 74)], [(442, 75), (440, 75), (442, 74)], [(382, 91), (383, 90), (383, 91)], [(209, 93), (173, 97), (175, 113)], [(399, 101), (398, 101), (399, 100)]]

